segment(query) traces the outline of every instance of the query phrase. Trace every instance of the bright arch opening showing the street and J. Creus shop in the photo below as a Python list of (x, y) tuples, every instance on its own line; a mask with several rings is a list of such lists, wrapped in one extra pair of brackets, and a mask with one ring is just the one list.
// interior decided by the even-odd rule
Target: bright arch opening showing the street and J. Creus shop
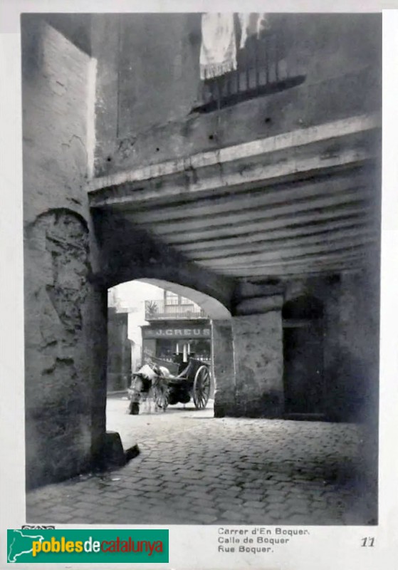
[[(135, 279), (108, 289), (106, 423), (108, 431), (120, 432), (123, 447), (133, 443), (125, 430), (134, 420), (126, 413), (131, 411), (128, 388), (135, 373), (147, 364), (163, 366), (172, 376), (187, 375), (187, 389), (184, 384), (182, 390), (170, 391), (167, 415), (214, 415), (217, 370), (223, 360), (217, 353), (214, 327), (218, 323), (229, 326), (230, 320), (231, 313), (217, 299), (171, 281)], [(232, 340), (230, 350), (233, 361)], [(192, 362), (193, 368), (185, 372)], [(205, 398), (200, 390), (205, 391)], [(155, 409), (142, 405), (133, 413), (152, 415)]]

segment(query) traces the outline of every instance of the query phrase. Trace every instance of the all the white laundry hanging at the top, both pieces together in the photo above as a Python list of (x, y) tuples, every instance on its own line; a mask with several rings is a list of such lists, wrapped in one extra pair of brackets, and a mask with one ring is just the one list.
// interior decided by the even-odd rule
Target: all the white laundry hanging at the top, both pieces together
[[(267, 14), (238, 14), (241, 27), (239, 49), (248, 36), (259, 36), (268, 28)], [(201, 16), (201, 79), (219, 77), (236, 70), (237, 38), (234, 14), (209, 12)]]

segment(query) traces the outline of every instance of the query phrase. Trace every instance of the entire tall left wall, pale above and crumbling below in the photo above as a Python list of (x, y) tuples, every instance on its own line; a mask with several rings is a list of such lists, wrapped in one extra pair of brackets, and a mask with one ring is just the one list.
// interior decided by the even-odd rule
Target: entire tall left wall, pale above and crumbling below
[[(106, 296), (85, 180), (90, 58), (22, 19), (26, 484), (88, 469), (105, 426)], [(102, 385), (101, 385), (102, 383)]]

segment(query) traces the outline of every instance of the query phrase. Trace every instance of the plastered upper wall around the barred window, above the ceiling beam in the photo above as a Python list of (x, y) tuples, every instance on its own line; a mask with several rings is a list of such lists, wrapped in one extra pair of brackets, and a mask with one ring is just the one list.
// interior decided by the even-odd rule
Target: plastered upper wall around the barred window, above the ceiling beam
[[(96, 172), (128, 170), (378, 111), (379, 14), (271, 14), (294, 88), (206, 115), (200, 14), (98, 14)], [(283, 64), (283, 65), (282, 65)]]

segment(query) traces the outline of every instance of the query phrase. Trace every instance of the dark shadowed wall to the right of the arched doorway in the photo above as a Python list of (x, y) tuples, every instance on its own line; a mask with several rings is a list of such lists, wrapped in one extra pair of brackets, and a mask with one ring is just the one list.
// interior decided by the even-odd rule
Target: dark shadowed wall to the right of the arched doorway
[[(286, 301), (314, 296), (323, 304), (323, 411), (331, 420), (377, 423), (379, 266), (325, 279), (292, 281)], [(310, 355), (309, 355), (310, 357)]]

